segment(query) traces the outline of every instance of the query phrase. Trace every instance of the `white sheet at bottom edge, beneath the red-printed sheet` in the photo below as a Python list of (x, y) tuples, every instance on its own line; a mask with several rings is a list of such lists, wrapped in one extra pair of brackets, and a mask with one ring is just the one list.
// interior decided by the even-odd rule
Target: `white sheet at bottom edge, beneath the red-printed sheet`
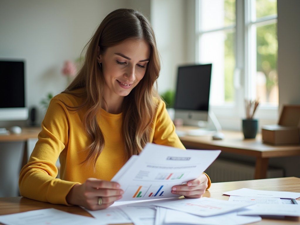
[(167, 209), (164, 222), (183, 224), (205, 224), (205, 225), (242, 225), (256, 223), (261, 220), (260, 216), (239, 216), (237, 212), (231, 212), (216, 216), (201, 217), (189, 213)]

